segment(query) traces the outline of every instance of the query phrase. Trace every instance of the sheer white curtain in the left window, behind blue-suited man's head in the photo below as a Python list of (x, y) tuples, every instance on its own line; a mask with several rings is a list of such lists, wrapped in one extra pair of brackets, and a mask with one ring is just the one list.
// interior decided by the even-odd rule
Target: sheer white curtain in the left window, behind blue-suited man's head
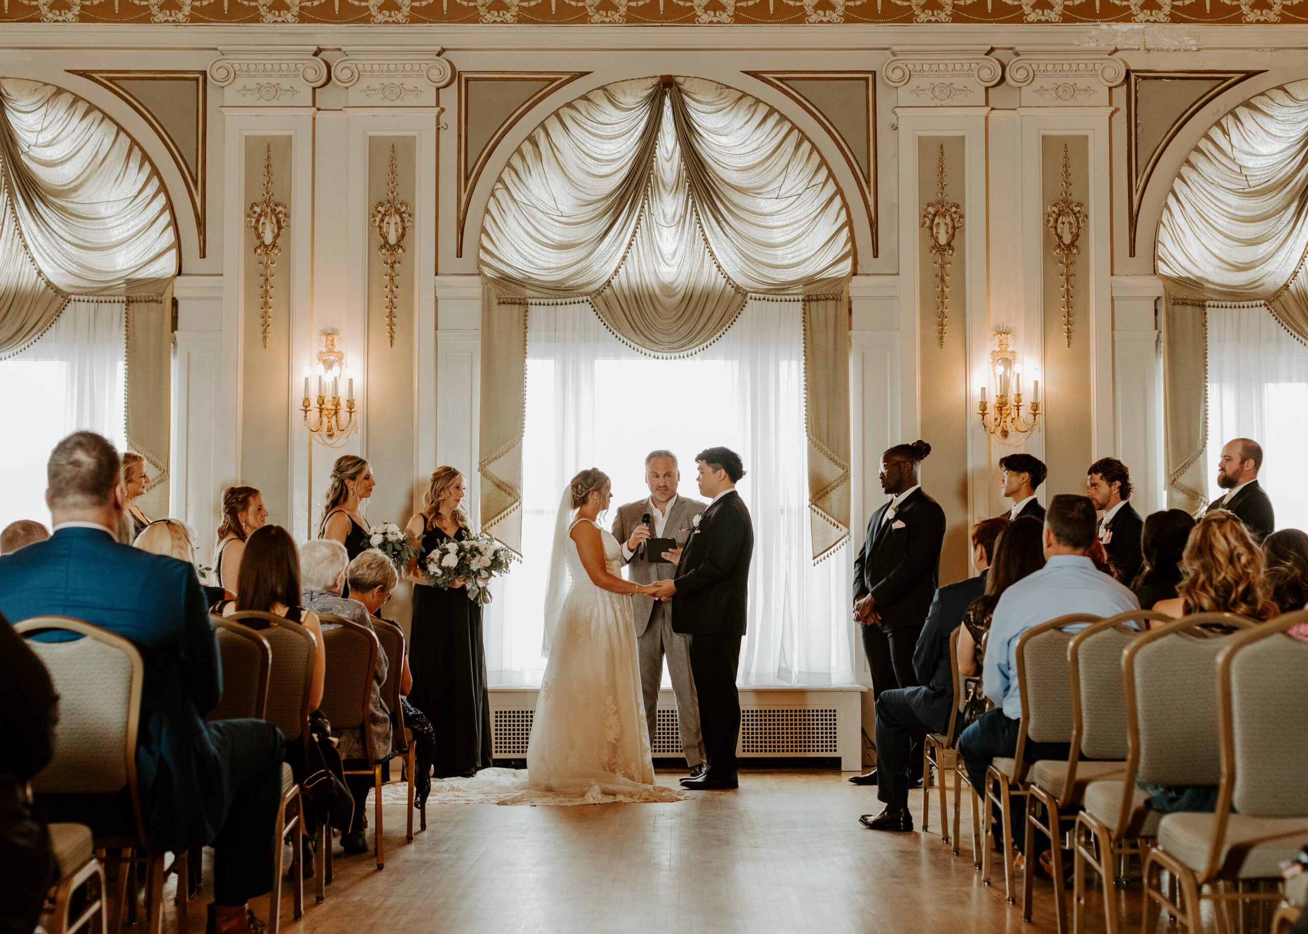
[(0, 399), (9, 399), (8, 492), (0, 527), (14, 519), (50, 522), (46, 459), (69, 432), (89, 429), (126, 449), (123, 429), (123, 301), (68, 302), (51, 328), (26, 351), (0, 361)]

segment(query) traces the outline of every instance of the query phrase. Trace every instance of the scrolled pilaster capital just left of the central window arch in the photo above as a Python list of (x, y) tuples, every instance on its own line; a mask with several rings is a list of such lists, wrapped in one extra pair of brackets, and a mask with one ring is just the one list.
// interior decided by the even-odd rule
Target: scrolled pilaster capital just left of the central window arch
[(349, 92), (348, 106), (434, 107), (437, 89), (454, 81), (441, 47), (347, 46), (332, 80)]

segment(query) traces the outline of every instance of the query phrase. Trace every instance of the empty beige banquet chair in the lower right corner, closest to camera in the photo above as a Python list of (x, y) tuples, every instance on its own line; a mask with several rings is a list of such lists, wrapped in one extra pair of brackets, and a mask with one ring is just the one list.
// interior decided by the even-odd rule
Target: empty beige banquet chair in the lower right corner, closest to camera
[[(1245, 903), (1279, 901), (1281, 892), (1265, 883), (1279, 882), (1282, 861), (1308, 845), (1308, 731), (1286, 722), (1303, 702), (1308, 642), (1284, 632), (1304, 621), (1308, 612), (1298, 611), (1213, 640), (1222, 644), (1215, 658), (1216, 807), (1163, 815), (1144, 857), (1146, 897), (1188, 931), (1199, 929), (1202, 899), (1214, 903), (1218, 930), (1230, 929), (1232, 903), (1243, 914)], [(1179, 882), (1180, 897), (1155, 886), (1159, 870)]]

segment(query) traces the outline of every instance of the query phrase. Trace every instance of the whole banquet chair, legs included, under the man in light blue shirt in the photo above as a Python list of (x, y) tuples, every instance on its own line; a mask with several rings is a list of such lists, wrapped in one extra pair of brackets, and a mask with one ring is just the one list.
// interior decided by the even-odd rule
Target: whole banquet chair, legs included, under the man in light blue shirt
[[(1018, 693), (1022, 697), (1022, 719), (1018, 725), (1018, 744), (1012, 759), (995, 759), (986, 769), (985, 807), (999, 807), (1003, 823), (1003, 890), (1008, 904), (1016, 904), (1014, 895), (1014, 853), (1010, 802), (1014, 795), (1028, 797), (1027, 778), (1035, 763), (1027, 761), (1027, 742), (1066, 743), (1071, 738), (1071, 688), (1067, 674), (1067, 644), (1073, 634), (1067, 627), (1097, 623), (1101, 616), (1069, 614), (1032, 627), (1018, 638)], [(995, 795), (994, 787), (999, 786)], [(1010, 785), (1016, 785), (1015, 789)], [(1029, 802), (1028, 802), (1029, 804)], [(989, 835), (988, 835), (989, 836)], [(1029, 837), (1029, 835), (1028, 835)], [(1029, 859), (1031, 853), (1027, 853)], [(981, 882), (990, 884), (991, 848), (985, 846)], [(1054, 869), (1059, 869), (1057, 865)], [(1032, 866), (1027, 863), (1029, 874)]]

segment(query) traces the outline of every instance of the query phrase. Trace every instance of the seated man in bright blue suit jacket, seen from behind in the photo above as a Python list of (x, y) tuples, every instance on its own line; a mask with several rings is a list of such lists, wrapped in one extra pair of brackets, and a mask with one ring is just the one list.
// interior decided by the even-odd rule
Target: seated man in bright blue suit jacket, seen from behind
[[(262, 929), (246, 903), (272, 887), (281, 733), (262, 719), (204, 722), (222, 695), (204, 591), (191, 564), (115, 542), (126, 496), (114, 446), (76, 432), (55, 446), (46, 471), (55, 534), (0, 557), (0, 612), (13, 621), (71, 616), (140, 646), (136, 773), (150, 849), (212, 844), (209, 930)], [(76, 803), (58, 801), (76, 795), (46, 798), (54, 820)]]

